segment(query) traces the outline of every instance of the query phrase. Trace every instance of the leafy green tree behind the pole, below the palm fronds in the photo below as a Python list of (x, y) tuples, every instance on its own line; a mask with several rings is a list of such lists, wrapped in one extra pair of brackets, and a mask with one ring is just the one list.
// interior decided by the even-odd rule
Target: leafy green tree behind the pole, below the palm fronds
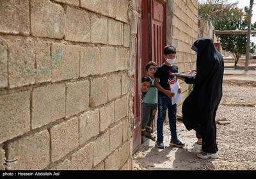
[[(244, 16), (239, 21), (226, 21), (225, 23), (216, 23), (214, 28), (217, 30), (244, 30), (248, 28), (248, 15), (249, 9), (246, 6), (244, 8)], [(256, 22), (252, 24), (251, 29), (255, 30)], [(234, 66), (237, 66), (237, 62), (241, 55), (246, 54), (246, 34), (216, 34), (220, 40), (221, 47), (224, 51), (231, 52), (235, 58)], [(254, 35), (253, 35), (254, 36)], [(256, 50), (256, 44), (250, 42), (250, 52), (253, 53)]]

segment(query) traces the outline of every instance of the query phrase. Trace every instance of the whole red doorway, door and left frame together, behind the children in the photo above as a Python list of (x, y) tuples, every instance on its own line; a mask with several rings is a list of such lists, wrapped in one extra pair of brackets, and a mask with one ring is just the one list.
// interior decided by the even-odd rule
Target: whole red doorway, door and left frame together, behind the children
[[(137, 54), (134, 74), (133, 153), (141, 145), (141, 75), (146, 75), (148, 61), (161, 65), (166, 43), (166, 1), (138, 0)], [(156, 130), (156, 119), (153, 130)]]

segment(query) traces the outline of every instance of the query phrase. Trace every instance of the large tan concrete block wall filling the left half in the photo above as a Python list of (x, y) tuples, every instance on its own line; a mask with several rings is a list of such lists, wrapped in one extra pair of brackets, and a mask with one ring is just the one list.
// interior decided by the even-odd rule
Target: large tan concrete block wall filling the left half
[(0, 160), (18, 157), (11, 169), (132, 169), (136, 3), (1, 0)]

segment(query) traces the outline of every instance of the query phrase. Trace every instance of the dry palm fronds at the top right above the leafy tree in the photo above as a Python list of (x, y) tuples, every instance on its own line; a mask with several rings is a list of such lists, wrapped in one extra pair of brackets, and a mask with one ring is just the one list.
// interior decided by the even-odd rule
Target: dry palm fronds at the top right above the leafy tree
[(228, 3), (227, 0), (200, 1), (199, 19), (205, 19), (214, 26), (215, 24), (240, 21), (244, 15), (243, 10), (237, 8), (237, 3)]

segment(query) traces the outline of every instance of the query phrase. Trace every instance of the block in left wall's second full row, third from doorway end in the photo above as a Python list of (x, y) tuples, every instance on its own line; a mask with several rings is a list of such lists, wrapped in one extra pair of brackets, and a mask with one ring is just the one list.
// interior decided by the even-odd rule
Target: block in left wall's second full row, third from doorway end
[(99, 75), (100, 65), (98, 47), (80, 47), (80, 77)]

